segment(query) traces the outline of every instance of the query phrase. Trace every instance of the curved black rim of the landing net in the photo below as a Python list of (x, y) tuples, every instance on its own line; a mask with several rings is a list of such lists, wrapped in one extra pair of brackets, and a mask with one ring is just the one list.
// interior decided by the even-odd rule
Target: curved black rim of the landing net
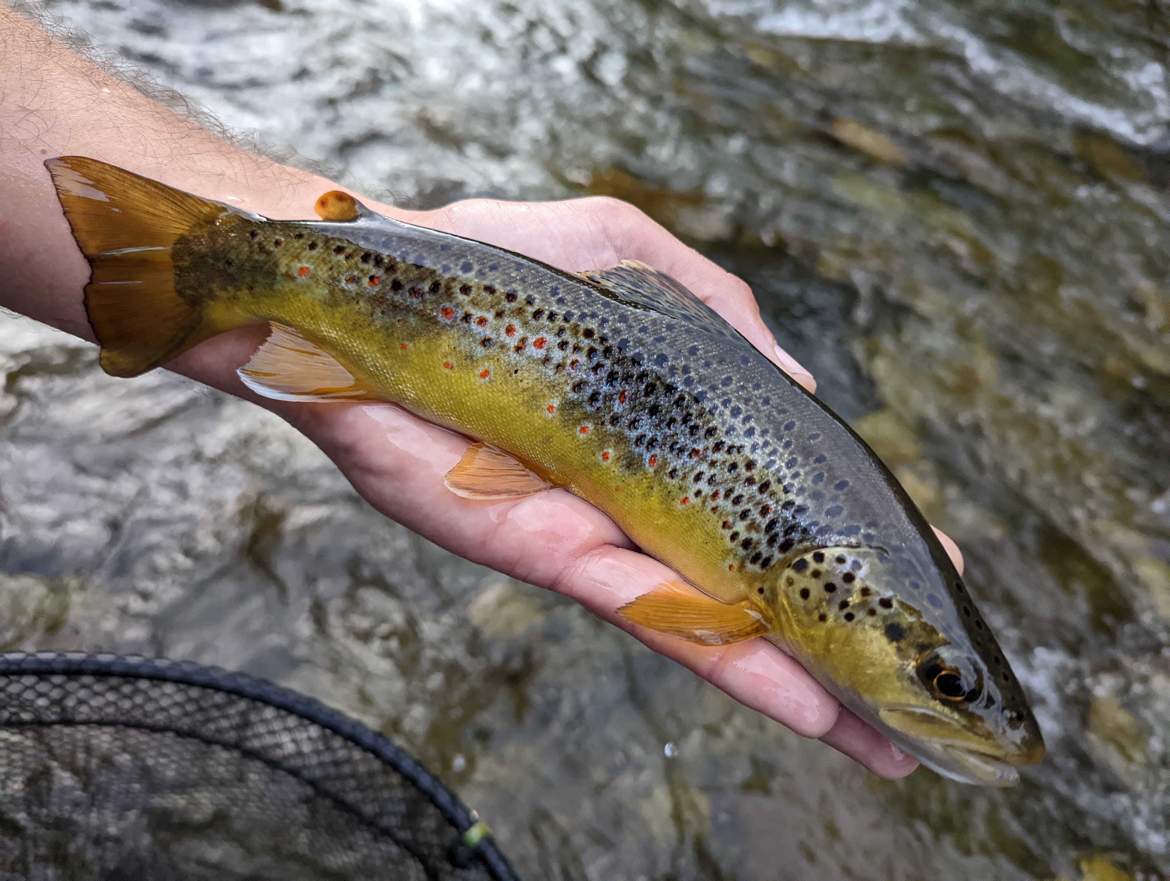
[[(479, 817), (474, 815), (442, 780), (385, 735), (371, 730), (358, 720), (322, 703), (316, 697), (300, 694), (259, 676), (195, 661), (172, 661), (111, 652), (0, 654), (0, 676), (20, 674), (145, 679), (215, 689), (266, 703), (332, 731), (393, 768), (434, 805), (460, 835), (479, 823)], [(519, 881), (490, 835), (481, 839), (473, 852), (482, 859), (495, 881)]]

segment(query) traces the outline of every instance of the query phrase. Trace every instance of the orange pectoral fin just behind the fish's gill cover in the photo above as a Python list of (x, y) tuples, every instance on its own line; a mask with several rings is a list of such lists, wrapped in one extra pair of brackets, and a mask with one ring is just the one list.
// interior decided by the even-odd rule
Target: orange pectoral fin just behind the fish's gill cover
[(746, 603), (720, 603), (682, 581), (663, 581), (624, 605), (618, 614), (631, 624), (703, 646), (742, 642), (772, 629)]

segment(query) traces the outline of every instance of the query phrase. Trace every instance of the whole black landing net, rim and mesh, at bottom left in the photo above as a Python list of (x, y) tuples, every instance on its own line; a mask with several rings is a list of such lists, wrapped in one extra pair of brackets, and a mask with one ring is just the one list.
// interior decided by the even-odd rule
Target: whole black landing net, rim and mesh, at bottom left
[(512, 881), (381, 735), (241, 674), (0, 655), (0, 880)]

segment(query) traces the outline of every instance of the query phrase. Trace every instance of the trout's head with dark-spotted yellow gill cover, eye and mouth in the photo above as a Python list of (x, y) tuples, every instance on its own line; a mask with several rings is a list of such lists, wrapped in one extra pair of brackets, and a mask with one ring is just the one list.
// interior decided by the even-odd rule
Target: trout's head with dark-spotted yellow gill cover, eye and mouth
[(1044, 757), (1024, 691), (954, 567), (821, 548), (789, 562), (775, 590), (783, 647), (922, 764), (1011, 786), (1019, 765)]

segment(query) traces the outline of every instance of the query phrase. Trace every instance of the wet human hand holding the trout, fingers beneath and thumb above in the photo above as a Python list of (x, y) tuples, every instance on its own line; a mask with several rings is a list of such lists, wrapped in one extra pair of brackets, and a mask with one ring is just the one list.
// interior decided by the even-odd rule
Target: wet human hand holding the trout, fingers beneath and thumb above
[[(688, 248), (629, 205), (612, 199), (567, 202), (472, 200), (433, 212), (372, 206), (420, 226), (524, 253), (560, 269), (607, 268), (640, 260), (674, 276), (810, 391), (812, 377), (777, 345), (748, 285)], [(706, 647), (619, 618), (617, 610), (661, 581), (677, 578), (640, 553), (614, 523), (559, 489), (509, 501), (452, 494), (446, 473), (469, 441), (388, 404), (285, 404), (256, 399), (223, 379), (262, 342), (263, 329), (208, 340), (173, 367), (256, 400), (312, 439), (374, 508), (476, 563), (576, 599), (633, 633), (741, 703), (806, 737), (819, 737), (886, 777), (917, 763), (841, 708), (794, 660), (764, 640)], [(208, 377), (220, 377), (216, 383)], [(950, 539), (944, 544), (962, 567)]]

